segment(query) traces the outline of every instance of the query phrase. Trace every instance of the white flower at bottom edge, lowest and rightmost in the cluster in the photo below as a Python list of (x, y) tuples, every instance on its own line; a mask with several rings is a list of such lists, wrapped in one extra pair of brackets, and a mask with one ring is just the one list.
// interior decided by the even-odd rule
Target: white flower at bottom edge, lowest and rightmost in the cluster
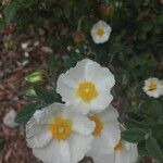
[(99, 152), (91, 154), (93, 163), (135, 163), (138, 159), (137, 145), (122, 139), (115, 145), (113, 153), (110, 153), (108, 148), (105, 148), (105, 151), (108, 151), (105, 154)]

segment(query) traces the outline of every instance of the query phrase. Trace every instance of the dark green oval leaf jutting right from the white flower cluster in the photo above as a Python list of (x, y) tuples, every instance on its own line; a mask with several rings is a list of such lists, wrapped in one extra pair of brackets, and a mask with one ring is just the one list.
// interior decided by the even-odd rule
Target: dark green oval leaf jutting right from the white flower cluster
[(131, 128), (127, 130), (123, 130), (121, 136), (124, 140), (128, 142), (140, 142), (146, 139), (146, 133), (140, 130), (139, 128)]

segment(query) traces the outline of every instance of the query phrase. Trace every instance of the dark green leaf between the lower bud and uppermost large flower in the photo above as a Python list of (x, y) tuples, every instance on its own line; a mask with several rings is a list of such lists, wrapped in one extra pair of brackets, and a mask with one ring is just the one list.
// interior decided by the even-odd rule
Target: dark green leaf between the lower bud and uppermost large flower
[(61, 102), (61, 97), (55, 92), (55, 90), (45, 90), (39, 86), (35, 86), (34, 89), (38, 98), (48, 104), (52, 102)]

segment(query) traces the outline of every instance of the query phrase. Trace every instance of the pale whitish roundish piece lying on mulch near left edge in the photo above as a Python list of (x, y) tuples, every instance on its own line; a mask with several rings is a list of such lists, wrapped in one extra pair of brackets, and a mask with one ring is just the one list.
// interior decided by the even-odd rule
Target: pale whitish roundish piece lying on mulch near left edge
[(16, 127), (18, 124), (17, 123), (15, 123), (15, 121), (14, 121), (14, 118), (15, 118), (15, 116), (16, 116), (16, 112), (14, 111), (14, 110), (11, 110), (11, 111), (9, 111), (7, 114), (5, 114), (5, 116), (4, 116), (4, 118), (3, 118), (3, 124), (5, 125), (5, 126), (8, 126), (8, 127)]

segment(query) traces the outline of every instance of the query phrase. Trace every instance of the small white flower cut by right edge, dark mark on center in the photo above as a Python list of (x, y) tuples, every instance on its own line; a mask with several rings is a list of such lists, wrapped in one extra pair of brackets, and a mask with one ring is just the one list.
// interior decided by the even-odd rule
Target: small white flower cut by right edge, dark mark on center
[(155, 77), (148, 78), (142, 89), (149, 97), (159, 98), (163, 95), (163, 82)]

